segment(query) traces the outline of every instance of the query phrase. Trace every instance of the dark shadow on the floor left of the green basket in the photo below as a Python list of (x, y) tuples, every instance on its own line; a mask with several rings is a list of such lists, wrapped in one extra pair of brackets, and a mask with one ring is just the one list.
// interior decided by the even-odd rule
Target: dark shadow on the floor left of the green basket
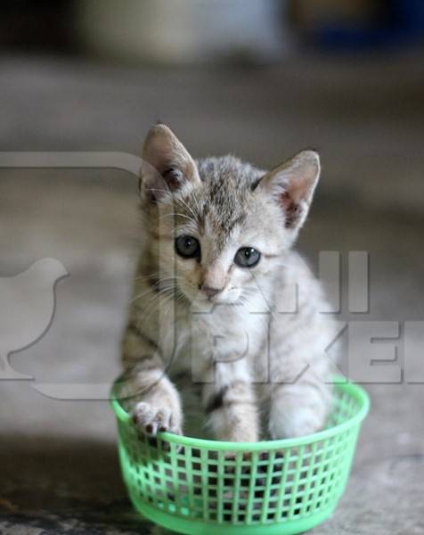
[(2, 437), (0, 464), (1, 533), (157, 532), (126, 498), (115, 444)]

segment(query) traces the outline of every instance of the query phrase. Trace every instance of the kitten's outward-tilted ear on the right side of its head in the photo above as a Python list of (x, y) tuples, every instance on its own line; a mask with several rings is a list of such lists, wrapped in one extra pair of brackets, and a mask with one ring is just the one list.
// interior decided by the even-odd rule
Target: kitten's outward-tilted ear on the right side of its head
[(259, 183), (281, 206), (286, 228), (302, 226), (320, 177), (320, 157), (314, 151), (302, 151), (289, 161), (269, 171)]

